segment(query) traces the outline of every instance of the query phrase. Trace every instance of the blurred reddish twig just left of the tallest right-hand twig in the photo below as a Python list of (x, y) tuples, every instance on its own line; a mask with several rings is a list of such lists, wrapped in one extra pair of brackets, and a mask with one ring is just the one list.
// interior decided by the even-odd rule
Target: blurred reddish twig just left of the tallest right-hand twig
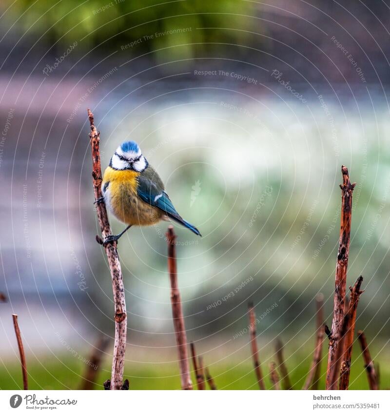
[(315, 298), (317, 304), (317, 335), (315, 338), (315, 348), (313, 354), (312, 366), (309, 371), (309, 375), (306, 378), (303, 390), (308, 390), (312, 384), (312, 390), (318, 389), (318, 379), (321, 370), (321, 354), (322, 354), (322, 344), (324, 341), (324, 295), (322, 293), (318, 294)]

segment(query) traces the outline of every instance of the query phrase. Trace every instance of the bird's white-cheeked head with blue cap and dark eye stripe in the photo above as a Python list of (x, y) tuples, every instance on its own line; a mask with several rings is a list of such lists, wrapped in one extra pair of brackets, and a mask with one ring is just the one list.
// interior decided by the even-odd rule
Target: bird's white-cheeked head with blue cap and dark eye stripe
[(142, 173), (147, 166), (148, 161), (135, 141), (122, 142), (110, 161), (110, 167), (114, 170), (133, 170)]

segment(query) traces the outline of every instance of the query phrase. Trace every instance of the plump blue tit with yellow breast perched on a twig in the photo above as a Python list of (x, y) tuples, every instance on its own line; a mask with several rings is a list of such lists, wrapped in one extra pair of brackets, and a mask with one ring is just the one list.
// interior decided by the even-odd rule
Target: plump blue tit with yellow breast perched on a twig
[(123, 232), (106, 237), (104, 245), (117, 242), (134, 225), (149, 226), (160, 220), (174, 220), (201, 236), (177, 213), (161, 178), (135, 141), (124, 141), (117, 147), (104, 171), (101, 192), (95, 203), (104, 201), (110, 212), (127, 224)]

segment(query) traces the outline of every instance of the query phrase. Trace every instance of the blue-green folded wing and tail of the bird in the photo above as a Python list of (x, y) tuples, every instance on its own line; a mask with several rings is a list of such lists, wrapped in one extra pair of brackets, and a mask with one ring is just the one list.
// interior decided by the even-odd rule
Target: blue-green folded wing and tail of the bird
[(200, 236), (200, 233), (196, 227), (190, 224), (188, 221), (184, 220), (176, 211), (172, 201), (168, 197), (168, 194), (164, 190), (164, 186), (160, 177), (151, 170), (153, 174), (149, 171), (150, 167), (145, 170), (147, 174), (141, 174), (138, 177), (138, 186), (137, 186), (137, 194), (138, 197), (141, 198), (142, 201), (148, 203), (154, 207), (159, 208), (162, 210), (168, 217), (176, 220), (183, 226), (190, 229), (196, 235)]

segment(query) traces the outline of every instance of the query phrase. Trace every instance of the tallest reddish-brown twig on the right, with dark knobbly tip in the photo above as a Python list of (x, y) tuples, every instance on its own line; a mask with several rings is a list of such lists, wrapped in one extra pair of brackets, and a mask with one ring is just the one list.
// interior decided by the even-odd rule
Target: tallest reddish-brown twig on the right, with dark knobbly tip
[[(346, 166), (341, 167), (343, 174), (343, 184), (341, 188), (341, 218), (340, 218), (340, 239), (337, 254), (333, 321), (331, 329), (331, 339), (329, 341), (328, 368), (326, 377), (326, 389), (331, 386), (331, 378), (334, 378), (336, 365), (336, 354), (339, 341), (341, 339), (341, 330), (344, 317), (344, 300), (346, 292), (348, 256), (350, 252), (351, 236), (351, 213), (352, 213), (352, 191), (356, 183), (351, 184)], [(333, 384), (333, 383), (332, 383)], [(334, 386), (334, 385), (333, 385)]]

